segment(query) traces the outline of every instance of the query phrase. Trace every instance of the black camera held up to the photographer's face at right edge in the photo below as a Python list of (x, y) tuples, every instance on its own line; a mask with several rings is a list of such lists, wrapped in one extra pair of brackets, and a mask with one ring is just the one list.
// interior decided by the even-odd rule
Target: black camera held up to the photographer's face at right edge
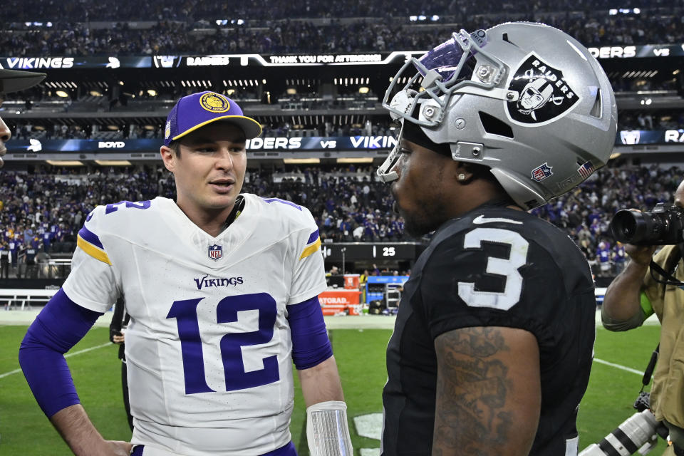
[(635, 245), (674, 245), (684, 242), (684, 209), (655, 204), (653, 212), (622, 209), (611, 220), (613, 237)]

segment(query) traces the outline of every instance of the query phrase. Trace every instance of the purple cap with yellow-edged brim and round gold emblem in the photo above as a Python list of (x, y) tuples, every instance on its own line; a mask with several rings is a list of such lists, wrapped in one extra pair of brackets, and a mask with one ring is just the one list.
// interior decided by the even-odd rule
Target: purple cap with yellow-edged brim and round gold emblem
[(172, 141), (219, 120), (242, 128), (248, 140), (261, 135), (261, 125), (257, 120), (242, 115), (237, 103), (225, 95), (207, 90), (178, 100), (166, 118), (164, 145), (168, 146)]

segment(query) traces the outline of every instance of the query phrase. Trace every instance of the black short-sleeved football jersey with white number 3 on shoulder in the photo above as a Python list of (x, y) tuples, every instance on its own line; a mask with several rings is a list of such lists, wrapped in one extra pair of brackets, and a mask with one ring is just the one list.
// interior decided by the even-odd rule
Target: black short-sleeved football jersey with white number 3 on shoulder
[(584, 255), (548, 222), (484, 205), (443, 224), (404, 285), (388, 344), (381, 454), (431, 454), (435, 338), (478, 326), (522, 328), (537, 337), (541, 415), (529, 454), (576, 454), (595, 313)]

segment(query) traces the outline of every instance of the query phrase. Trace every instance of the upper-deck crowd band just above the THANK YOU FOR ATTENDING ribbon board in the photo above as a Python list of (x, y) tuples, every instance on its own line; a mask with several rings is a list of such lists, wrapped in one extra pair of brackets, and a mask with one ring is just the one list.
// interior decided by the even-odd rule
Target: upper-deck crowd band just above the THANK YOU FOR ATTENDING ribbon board
[[(668, 3), (675, 6), (675, 2)], [(341, 4), (348, 6), (348, 2)], [(137, 6), (136, 4), (135, 7)], [(298, 10), (290, 9), (291, 5), (282, 8), (289, 9), (295, 16), (277, 16), (278, 19), (310, 17), (306, 16), (306, 9), (299, 10), (304, 12), (301, 13), (302, 16), (297, 16)], [(318, 8), (313, 10), (318, 11)], [(502, 6), (502, 9), (494, 10), (492, 14), (482, 14), (482, 9), (478, 6), (475, 10), (463, 9), (463, 12), (460, 9), (451, 10), (456, 11), (457, 15), (450, 16), (448, 25), (442, 23), (443, 21), (413, 23), (406, 19), (408, 14), (396, 19), (387, 14), (368, 12), (369, 16), (341, 22), (339, 15), (324, 16), (319, 13), (318, 17), (335, 19), (320, 25), (306, 20), (284, 19), (268, 21), (263, 26), (244, 25), (230, 28), (222, 28), (213, 20), (222, 19), (229, 13), (222, 11), (217, 16), (202, 13), (202, 8), (199, 8), (199, 12), (193, 10), (193, 16), (185, 18), (171, 19), (165, 18), (163, 14), (152, 14), (150, 19), (156, 22), (149, 28), (131, 28), (125, 19), (116, 19), (120, 22), (108, 28), (95, 28), (90, 27), (86, 21), (74, 22), (72, 19), (68, 24), (56, 23), (51, 28), (22, 30), (25, 23), (21, 21), (17, 28), (0, 32), (0, 48), (15, 50), (14, 57), (411, 51), (427, 50), (432, 43), (445, 41), (455, 28), (475, 30), (510, 20), (539, 21), (556, 26), (577, 38), (585, 46), (626, 46), (684, 41), (682, 19), (681, 15), (676, 13), (676, 8), (666, 12), (660, 9), (643, 9), (640, 14), (631, 15), (611, 15), (606, 10), (596, 8), (592, 6), (588, 11), (583, 11), (574, 7), (560, 14), (559, 11), (563, 11), (562, 9), (523, 7), (511, 11), (510, 8)], [(18, 9), (21, 11), (21, 8)], [(279, 8), (273, 5), (269, 7), (270, 12), (277, 9)], [(175, 11), (180, 10), (182, 9)], [(8, 11), (12, 11), (12, 8)], [(473, 15), (472, 11), (477, 11), (477, 15)], [(159, 16), (163, 19), (153, 19)], [(232, 14), (231, 16), (234, 17)], [(31, 14), (26, 14), (26, 17), (31, 17)], [(78, 17), (78, 14), (75, 17)], [(192, 20), (197, 17), (204, 18), (203, 22), (198, 24)], [(11, 19), (5, 18), (5, 21)], [(426, 26), (428, 28), (425, 28)]]

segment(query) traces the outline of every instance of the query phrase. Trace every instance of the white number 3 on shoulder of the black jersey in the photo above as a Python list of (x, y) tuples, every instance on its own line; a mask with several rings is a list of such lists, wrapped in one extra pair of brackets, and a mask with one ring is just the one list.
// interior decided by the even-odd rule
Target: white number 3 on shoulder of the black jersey
[(480, 249), (482, 242), (509, 244), (508, 258), (487, 257), (487, 274), (504, 276), (504, 291), (476, 291), (474, 282), (458, 282), (458, 296), (471, 307), (492, 307), (507, 311), (520, 301), (522, 276), (518, 268), (527, 261), (529, 242), (516, 232), (500, 228), (475, 228), (463, 239), (463, 248)]

